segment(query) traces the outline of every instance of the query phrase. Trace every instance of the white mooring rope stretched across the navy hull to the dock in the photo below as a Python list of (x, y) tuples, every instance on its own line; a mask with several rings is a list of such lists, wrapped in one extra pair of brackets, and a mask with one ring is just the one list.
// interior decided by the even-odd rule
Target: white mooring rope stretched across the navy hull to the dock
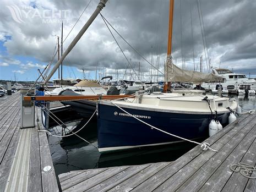
[(167, 131), (164, 131), (164, 130), (161, 130), (161, 129), (159, 129), (159, 128), (156, 128), (156, 127), (154, 127), (153, 125), (150, 125), (149, 123), (146, 123), (146, 122), (144, 122), (143, 120), (141, 120), (141, 119), (139, 119), (139, 118), (133, 116), (132, 114), (130, 114), (129, 112), (127, 112), (127, 111), (124, 110), (123, 108), (121, 108), (121, 107), (119, 107), (118, 105), (116, 105), (116, 103), (113, 103), (112, 101), (110, 101), (110, 102), (111, 102), (113, 105), (115, 105), (117, 108), (121, 109), (123, 112), (129, 114), (130, 117), (133, 117), (133, 118), (139, 120), (141, 123), (144, 123), (144, 124), (148, 125), (151, 129), (156, 129), (156, 130), (161, 131), (162, 133), (165, 133), (165, 134), (167, 134), (167, 135), (174, 136), (174, 137), (176, 137), (176, 138), (178, 138), (178, 139), (182, 139), (182, 140), (185, 140), (185, 141), (193, 142), (194, 144), (201, 145), (201, 149), (202, 149), (203, 151), (205, 151), (205, 150), (207, 150), (207, 149), (210, 149), (210, 150), (212, 150), (212, 151), (218, 152), (217, 150), (211, 149), (210, 144), (208, 144), (207, 142), (200, 143), (200, 142), (197, 142), (197, 141), (192, 141), (192, 140), (189, 140), (189, 139), (186, 139), (186, 138), (182, 138), (181, 136), (177, 136), (177, 135), (173, 135), (173, 134), (171, 134), (171, 133), (168, 133)]

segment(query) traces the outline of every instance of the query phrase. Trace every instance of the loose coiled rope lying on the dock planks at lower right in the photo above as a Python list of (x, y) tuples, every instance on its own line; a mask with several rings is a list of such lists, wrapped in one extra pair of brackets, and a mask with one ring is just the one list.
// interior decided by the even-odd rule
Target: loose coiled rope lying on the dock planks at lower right
[(249, 179), (256, 179), (256, 176), (255, 177), (250, 176), (250, 174), (252, 174), (253, 171), (256, 171), (256, 167), (253, 167), (250, 164), (247, 164), (247, 163), (230, 164), (230, 169), (233, 172), (241, 173), (244, 177), (247, 177)]

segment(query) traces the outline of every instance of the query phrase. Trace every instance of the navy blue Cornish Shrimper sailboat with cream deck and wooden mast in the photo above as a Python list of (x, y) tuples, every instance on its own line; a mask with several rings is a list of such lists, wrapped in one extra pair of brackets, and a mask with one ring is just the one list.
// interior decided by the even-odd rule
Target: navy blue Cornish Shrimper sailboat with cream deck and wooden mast
[[(170, 1), (165, 82), (202, 83), (221, 80), (213, 74), (179, 69), (172, 63), (172, 18), (173, 0)], [(123, 101), (99, 101), (99, 151), (184, 141), (166, 133), (190, 140), (204, 138), (209, 136), (209, 124), (213, 118), (223, 125), (228, 123), (230, 110), (227, 107), (235, 110), (237, 102), (227, 97), (200, 95), (188, 90), (183, 93), (138, 95)]]

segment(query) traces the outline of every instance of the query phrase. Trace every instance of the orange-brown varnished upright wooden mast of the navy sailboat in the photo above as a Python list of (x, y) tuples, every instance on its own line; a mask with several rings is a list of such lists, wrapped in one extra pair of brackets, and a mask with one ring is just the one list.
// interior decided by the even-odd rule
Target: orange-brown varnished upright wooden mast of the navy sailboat
[(172, 21), (173, 21), (173, 7), (174, 0), (170, 0), (170, 8), (169, 8), (169, 28), (168, 28), (168, 45), (167, 45), (167, 59), (165, 62), (165, 85), (164, 92), (167, 92), (167, 83), (168, 83), (168, 64), (172, 64)]

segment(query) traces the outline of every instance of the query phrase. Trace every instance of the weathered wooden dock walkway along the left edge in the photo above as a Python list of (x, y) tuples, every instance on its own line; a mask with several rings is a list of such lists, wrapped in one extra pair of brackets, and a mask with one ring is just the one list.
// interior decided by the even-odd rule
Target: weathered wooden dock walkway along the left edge
[(0, 191), (58, 191), (46, 133), (40, 122), (20, 129), (20, 102), (19, 92), (0, 98)]

